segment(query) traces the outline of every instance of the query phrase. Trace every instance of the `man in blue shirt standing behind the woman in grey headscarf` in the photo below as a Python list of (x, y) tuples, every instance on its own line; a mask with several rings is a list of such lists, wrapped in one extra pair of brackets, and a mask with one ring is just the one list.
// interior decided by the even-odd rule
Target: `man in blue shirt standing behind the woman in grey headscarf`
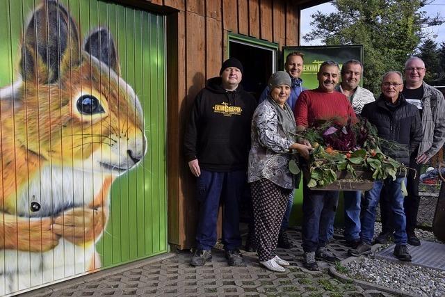
[[(300, 96), (300, 93), (305, 90), (305, 88), (302, 87), (302, 79), (300, 79), (300, 75), (303, 72), (303, 56), (300, 51), (293, 51), (289, 55), (286, 56), (286, 63), (284, 64), (284, 70), (286, 70), (287, 73), (289, 73), (289, 76), (291, 77), (292, 86), (291, 86), (291, 95), (289, 96), (289, 99), (287, 99), (287, 104), (291, 106), (291, 109), (295, 107), (297, 103), (298, 96)], [(270, 93), (269, 87), (266, 87), (261, 93), (261, 96), (259, 97), (259, 102), (263, 102), (268, 94)], [(282, 221), (280, 234), (278, 236), (278, 247), (279, 248), (292, 248), (291, 243), (289, 242), (289, 239), (286, 235), (286, 229), (289, 225), (289, 216), (291, 216), (291, 210), (293, 205), (293, 191), (289, 195), (289, 202), (287, 204), (286, 213), (284, 214), (284, 218)]]

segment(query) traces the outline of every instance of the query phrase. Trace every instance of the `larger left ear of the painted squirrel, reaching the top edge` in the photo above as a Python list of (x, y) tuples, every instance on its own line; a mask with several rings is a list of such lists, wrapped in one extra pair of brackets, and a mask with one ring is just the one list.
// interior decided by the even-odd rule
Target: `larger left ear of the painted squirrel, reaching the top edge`
[(80, 64), (79, 33), (74, 20), (58, 1), (45, 0), (26, 27), (20, 63), (22, 78), (54, 83)]

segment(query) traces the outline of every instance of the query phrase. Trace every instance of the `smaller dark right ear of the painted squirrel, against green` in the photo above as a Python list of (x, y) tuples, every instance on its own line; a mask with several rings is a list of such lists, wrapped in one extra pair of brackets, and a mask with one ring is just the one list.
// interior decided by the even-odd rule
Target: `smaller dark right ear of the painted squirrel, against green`
[(116, 54), (113, 36), (108, 29), (101, 27), (92, 31), (86, 38), (83, 49), (119, 73), (118, 54)]

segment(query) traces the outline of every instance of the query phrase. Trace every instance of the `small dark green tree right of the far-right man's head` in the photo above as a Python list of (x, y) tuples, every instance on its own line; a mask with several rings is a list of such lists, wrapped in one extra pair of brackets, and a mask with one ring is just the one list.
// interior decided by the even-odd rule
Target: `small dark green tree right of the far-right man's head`
[(426, 83), (435, 86), (443, 77), (437, 43), (428, 38), (422, 43), (419, 51), (419, 58), (423, 60), (426, 67), (426, 74), (423, 80), (426, 81)]

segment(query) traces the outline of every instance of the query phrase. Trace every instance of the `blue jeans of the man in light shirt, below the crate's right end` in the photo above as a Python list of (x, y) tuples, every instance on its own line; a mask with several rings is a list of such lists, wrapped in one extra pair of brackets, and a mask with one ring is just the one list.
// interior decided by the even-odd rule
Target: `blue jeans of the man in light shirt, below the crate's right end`
[(360, 239), (360, 203), (362, 202), (362, 191), (344, 191), (345, 207), (345, 231), (347, 241)]

